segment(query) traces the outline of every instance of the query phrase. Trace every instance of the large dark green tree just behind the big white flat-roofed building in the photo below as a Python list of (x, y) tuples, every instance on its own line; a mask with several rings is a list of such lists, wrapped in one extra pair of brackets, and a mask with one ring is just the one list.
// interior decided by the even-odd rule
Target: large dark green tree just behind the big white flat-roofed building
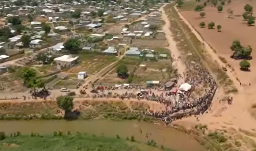
[(80, 50), (80, 41), (76, 38), (69, 38), (63, 46), (68, 50), (69, 53), (77, 53)]

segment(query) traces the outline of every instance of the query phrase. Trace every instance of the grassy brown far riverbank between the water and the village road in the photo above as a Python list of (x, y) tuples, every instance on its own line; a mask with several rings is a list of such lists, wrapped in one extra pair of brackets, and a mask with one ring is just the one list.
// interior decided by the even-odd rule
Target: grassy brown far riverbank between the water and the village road
[[(150, 104), (150, 103), (149, 103)], [(154, 102), (155, 104), (155, 102)], [(75, 109), (80, 111), (78, 120), (138, 120), (157, 121), (143, 113), (151, 110), (144, 101), (122, 101), (117, 99), (80, 99), (74, 101)], [(160, 106), (160, 103), (159, 103)], [(56, 101), (1, 102), (0, 120), (62, 120), (64, 111)]]

